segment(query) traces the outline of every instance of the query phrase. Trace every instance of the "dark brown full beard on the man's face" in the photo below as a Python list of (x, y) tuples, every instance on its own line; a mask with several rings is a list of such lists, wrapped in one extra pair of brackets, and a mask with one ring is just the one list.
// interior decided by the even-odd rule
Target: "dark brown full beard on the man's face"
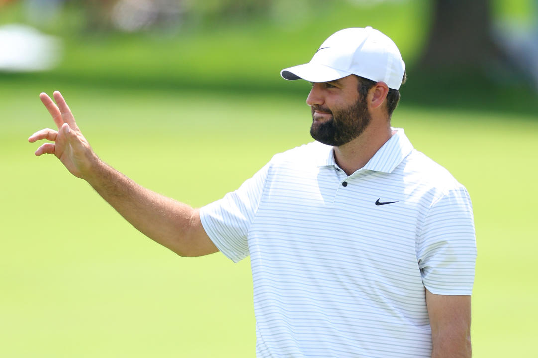
[[(357, 138), (370, 123), (370, 113), (366, 101), (359, 96), (357, 102), (348, 108), (335, 109), (330, 111), (329, 108), (321, 106), (310, 107), (312, 111), (312, 127), (310, 135), (316, 141), (323, 144), (338, 147)], [(329, 113), (330, 119), (321, 122), (314, 120), (315, 110)]]

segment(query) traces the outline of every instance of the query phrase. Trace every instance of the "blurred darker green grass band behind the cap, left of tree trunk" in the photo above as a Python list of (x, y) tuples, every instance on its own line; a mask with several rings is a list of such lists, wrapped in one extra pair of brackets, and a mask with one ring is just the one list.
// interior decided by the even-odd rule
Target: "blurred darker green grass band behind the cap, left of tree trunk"
[[(0, 24), (24, 18), (22, 4), (0, 16)], [(32, 74), (48, 83), (84, 83), (117, 89), (215, 89), (249, 93), (289, 91), (279, 71), (308, 62), (322, 39), (345, 27), (373, 26), (398, 43), (412, 63), (425, 41), (430, 2), (383, 3), (353, 6), (348, 1), (317, 2), (305, 13), (282, 12), (241, 21), (216, 22), (201, 28), (183, 28), (175, 34), (146, 32), (104, 33), (84, 28), (79, 8), (67, 8), (65, 16), (47, 33), (64, 41), (59, 67)], [(79, 25), (77, 25), (79, 24)], [(401, 29), (405, 28), (405, 32)], [(4, 81), (26, 81), (27, 76), (4, 74)], [(0, 76), (2, 79), (2, 76)]]

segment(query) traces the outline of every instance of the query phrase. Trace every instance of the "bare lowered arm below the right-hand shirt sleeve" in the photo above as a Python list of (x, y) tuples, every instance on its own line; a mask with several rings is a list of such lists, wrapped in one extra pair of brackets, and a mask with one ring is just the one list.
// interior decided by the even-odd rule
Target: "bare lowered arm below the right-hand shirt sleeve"
[(436, 295), (426, 290), (432, 357), (471, 356), (471, 296)]

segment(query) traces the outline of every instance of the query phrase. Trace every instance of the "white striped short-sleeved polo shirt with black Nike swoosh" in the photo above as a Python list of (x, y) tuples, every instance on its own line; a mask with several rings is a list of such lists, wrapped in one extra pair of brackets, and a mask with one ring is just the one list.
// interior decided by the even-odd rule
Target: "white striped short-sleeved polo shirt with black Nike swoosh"
[(424, 287), (471, 295), (469, 194), (402, 129), (350, 176), (328, 145), (277, 154), (200, 215), (250, 254), (257, 357), (430, 357)]

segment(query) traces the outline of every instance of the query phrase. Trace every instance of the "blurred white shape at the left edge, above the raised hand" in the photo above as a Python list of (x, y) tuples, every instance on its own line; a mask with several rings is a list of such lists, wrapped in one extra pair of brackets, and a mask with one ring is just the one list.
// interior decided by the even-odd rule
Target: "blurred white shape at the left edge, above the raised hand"
[(60, 60), (61, 42), (33, 27), (0, 26), (0, 71), (43, 71)]

